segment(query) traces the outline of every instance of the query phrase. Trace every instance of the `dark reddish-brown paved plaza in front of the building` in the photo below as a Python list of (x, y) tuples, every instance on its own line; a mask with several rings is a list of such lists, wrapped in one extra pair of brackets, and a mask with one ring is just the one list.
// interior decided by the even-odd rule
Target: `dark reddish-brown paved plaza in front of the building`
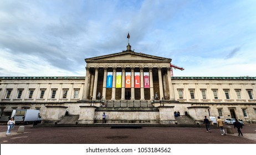
[[(231, 125), (226, 125), (231, 126)], [(1, 144), (255, 144), (256, 124), (244, 125), (244, 137), (234, 134), (222, 136), (218, 128), (206, 132), (200, 127), (58, 127), (33, 128), (25, 125), (24, 133), (15, 126), (6, 136), (7, 126), (0, 126)], [(233, 127), (233, 126), (232, 126)]]

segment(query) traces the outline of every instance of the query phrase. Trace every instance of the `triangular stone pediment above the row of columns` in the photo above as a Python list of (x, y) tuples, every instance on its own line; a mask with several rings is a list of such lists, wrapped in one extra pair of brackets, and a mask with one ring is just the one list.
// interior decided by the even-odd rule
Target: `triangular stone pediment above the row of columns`
[(144, 53), (136, 53), (134, 51), (123, 51), (120, 53), (88, 58), (85, 59), (85, 61), (171, 61), (171, 59), (148, 55)]

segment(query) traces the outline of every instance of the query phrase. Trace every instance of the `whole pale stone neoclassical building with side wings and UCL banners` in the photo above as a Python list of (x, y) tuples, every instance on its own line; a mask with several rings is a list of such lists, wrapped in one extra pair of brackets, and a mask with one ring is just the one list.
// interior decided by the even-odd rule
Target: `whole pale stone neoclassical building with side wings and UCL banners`
[(201, 123), (204, 116), (256, 122), (256, 77), (173, 77), (170, 58), (120, 53), (85, 59), (85, 77), (0, 77), (0, 115), (38, 109), (43, 123), (65, 111), (78, 124), (174, 124), (175, 111)]

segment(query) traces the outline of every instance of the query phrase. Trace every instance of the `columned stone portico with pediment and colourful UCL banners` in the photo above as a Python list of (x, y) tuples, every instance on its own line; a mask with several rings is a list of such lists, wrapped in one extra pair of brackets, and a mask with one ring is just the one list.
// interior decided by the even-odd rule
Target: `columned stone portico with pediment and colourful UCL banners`
[[(84, 100), (156, 100), (173, 99), (170, 63), (162, 58), (130, 50), (85, 59)], [(88, 78), (87, 78), (88, 77)]]

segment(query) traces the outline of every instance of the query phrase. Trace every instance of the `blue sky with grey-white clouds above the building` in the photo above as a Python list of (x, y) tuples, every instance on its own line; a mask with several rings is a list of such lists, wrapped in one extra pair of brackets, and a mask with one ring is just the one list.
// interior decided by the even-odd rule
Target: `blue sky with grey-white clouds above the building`
[(85, 76), (85, 58), (171, 58), (175, 76), (256, 76), (256, 1), (0, 1), (0, 76)]

